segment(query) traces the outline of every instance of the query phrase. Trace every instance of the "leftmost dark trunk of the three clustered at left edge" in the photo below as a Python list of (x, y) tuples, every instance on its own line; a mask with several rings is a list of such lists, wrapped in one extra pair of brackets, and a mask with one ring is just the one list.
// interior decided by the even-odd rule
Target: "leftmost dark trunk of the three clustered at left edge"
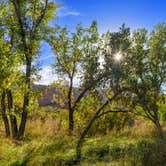
[(5, 96), (6, 96), (6, 93), (5, 93), (5, 91), (3, 91), (2, 98), (1, 98), (2, 119), (3, 119), (4, 126), (5, 126), (6, 137), (9, 137), (10, 136), (10, 127), (9, 127), (8, 117), (6, 115)]

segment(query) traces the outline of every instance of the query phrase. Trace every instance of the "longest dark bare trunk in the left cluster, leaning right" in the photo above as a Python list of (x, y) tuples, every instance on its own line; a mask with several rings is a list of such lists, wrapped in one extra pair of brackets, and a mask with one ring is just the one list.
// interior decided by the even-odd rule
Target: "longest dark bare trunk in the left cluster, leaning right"
[(27, 85), (27, 91), (24, 96), (24, 104), (23, 104), (23, 112), (22, 112), (22, 117), (21, 117), (21, 123), (19, 127), (19, 132), (18, 132), (18, 138), (22, 139), (24, 136), (25, 132), (25, 125), (27, 121), (27, 107), (29, 105), (29, 93), (30, 93), (30, 88), (31, 88), (31, 58), (26, 58), (26, 85)]

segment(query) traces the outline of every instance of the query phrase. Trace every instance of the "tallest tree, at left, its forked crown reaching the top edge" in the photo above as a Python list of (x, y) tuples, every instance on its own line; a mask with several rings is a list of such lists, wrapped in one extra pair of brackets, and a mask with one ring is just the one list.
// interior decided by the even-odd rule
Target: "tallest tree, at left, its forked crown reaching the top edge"
[[(22, 139), (30, 101), (30, 90), (32, 84), (32, 62), (39, 53), (40, 42), (45, 39), (46, 31), (49, 30), (49, 21), (55, 16), (56, 5), (52, 1), (3, 1), (2, 6), (6, 8), (3, 12), (2, 24), (5, 31), (14, 32), (14, 36), (8, 35), (13, 39), (14, 49), (21, 54), (21, 60), (25, 65), (25, 77), (23, 84), (24, 101), (22, 109), (21, 123), (17, 132), (17, 138)], [(16, 40), (17, 39), (17, 40)], [(8, 107), (13, 108), (12, 93), (8, 93)]]

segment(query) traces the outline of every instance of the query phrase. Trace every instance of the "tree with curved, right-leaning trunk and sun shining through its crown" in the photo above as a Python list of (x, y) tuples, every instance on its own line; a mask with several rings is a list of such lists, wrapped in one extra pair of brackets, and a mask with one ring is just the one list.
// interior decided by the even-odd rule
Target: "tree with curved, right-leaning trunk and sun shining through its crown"
[(131, 110), (122, 110), (121, 108), (115, 108), (110, 110), (110, 106), (113, 102), (117, 101), (121, 95), (124, 95), (128, 88), (126, 87), (125, 80), (128, 79), (126, 75), (126, 63), (122, 59), (116, 59), (117, 53), (123, 56), (128, 56), (130, 48), (130, 29), (122, 25), (119, 32), (103, 34), (102, 37), (104, 55), (104, 64), (102, 67), (103, 80), (98, 84), (97, 90), (102, 96), (102, 103), (96, 110), (92, 118), (83, 129), (79, 140), (76, 145), (76, 162), (81, 160), (81, 148), (86, 135), (91, 129), (94, 122), (100, 117), (108, 113), (127, 113)]

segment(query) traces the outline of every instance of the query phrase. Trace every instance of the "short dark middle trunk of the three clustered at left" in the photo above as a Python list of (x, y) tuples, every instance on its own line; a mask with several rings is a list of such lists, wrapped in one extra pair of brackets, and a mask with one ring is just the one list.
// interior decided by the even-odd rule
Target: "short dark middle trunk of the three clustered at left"
[(10, 115), (12, 137), (16, 139), (18, 135), (18, 127), (17, 127), (17, 118), (14, 115), (14, 111), (13, 111), (13, 96), (12, 96), (11, 90), (7, 90), (7, 98), (8, 98), (8, 109), (9, 109), (9, 115)]

